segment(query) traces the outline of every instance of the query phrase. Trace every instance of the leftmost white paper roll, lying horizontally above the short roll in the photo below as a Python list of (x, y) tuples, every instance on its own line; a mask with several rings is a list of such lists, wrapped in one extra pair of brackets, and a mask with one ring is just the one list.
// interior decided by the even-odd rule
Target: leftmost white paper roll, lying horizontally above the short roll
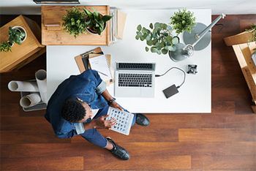
[(12, 80), (8, 83), (8, 88), (10, 91), (29, 91), (29, 92), (38, 92), (37, 82), (31, 81), (16, 81)]

